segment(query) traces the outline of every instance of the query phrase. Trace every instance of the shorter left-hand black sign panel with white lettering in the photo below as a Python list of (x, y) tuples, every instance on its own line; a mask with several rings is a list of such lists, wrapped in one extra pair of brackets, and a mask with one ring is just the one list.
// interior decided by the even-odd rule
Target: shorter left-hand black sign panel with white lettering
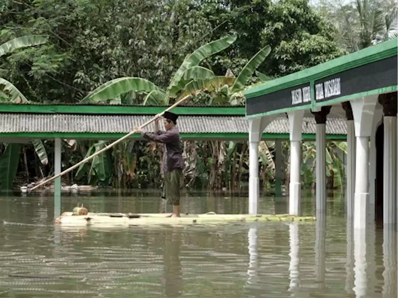
[(310, 83), (254, 97), (246, 101), (246, 114), (254, 115), (311, 103)]

